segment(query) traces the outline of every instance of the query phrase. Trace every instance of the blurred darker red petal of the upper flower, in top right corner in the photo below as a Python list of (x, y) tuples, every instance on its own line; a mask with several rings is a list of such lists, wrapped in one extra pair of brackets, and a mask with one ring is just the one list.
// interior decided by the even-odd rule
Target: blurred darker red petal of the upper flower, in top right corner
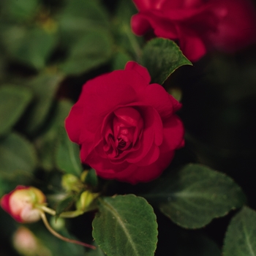
[(208, 35), (208, 45), (227, 53), (256, 42), (256, 11), (252, 1), (213, 1), (219, 23)]

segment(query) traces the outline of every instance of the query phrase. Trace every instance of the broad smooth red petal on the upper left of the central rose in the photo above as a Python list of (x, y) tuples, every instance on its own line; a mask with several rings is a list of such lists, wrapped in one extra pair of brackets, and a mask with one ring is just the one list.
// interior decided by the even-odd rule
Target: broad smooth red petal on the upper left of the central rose
[(145, 79), (134, 70), (116, 70), (89, 80), (76, 103), (83, 108), (81, 119), (84, 127), (95, 132), (106, 114), (118, 106), (137, 102), (138, 93), (146, 85)]

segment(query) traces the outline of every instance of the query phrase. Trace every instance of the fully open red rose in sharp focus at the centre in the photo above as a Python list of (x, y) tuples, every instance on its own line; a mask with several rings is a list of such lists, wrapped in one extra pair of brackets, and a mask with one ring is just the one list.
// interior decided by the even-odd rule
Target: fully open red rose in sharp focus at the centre
[(80, 158), (102, 178), (136, 184), (151, 181), (184, 144), (176, 99), (151, 78), (145, 67), (128, 62), (89, 80), (66, 119)]

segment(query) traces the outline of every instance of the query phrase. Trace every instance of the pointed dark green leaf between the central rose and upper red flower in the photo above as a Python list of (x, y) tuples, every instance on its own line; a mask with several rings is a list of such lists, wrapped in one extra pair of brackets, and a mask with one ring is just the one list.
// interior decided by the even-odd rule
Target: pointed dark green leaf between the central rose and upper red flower
[(142, 64), (151, 75), (151, 83), (162, 84), (178, 67), (192, 65), (175, 42), (155, 38), (143, 49)]

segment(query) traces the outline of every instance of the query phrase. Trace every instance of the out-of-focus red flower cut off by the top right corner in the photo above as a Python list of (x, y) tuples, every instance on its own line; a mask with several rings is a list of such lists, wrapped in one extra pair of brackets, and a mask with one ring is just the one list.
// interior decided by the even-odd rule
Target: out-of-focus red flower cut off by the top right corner
[(184, 55), (197, 61), (206, 50), (233, 53), (256, 42), (256, 12), (249, 0), (133, 0), (139, 13), (132, 30), (151, 29), (178, 40)]

